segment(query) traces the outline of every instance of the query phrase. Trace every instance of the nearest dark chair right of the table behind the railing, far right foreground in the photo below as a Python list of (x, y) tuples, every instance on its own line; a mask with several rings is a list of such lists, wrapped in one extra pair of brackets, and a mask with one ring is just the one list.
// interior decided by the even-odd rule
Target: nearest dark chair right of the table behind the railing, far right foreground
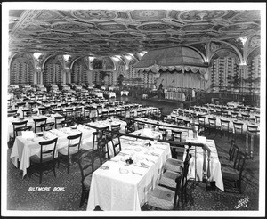
[(234, 166), (222, 166), (223, 184), (225, 188), (237, 189), (242, 193), (242, 177), (246, 165), (246, 156), (239, 151), (239, 158)]

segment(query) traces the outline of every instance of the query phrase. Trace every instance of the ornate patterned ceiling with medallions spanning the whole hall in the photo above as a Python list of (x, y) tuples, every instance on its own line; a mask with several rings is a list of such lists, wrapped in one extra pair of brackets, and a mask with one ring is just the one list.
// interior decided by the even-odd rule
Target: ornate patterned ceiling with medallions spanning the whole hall
[(10, 10), (9, 51), (85, 56), (205, 47), (259, 35), (259, 10)]

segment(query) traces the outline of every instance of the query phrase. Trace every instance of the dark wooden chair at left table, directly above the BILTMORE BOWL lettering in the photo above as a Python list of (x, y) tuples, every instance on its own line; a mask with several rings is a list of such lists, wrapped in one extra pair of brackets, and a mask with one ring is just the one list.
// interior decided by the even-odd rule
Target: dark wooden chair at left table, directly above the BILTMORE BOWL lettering
[(54, 177), (55, 173), (55, 150), (58, 142), (58, 138), (53, 140), (39, 142), (40, 153), (35, 154), (30, 157), (30, 166), (28, 168), (28, 176), (31, 177), (32, 174), (39, 173), (39, 183), (42, 183), (42, 177), (44, 171), (53, 171)]

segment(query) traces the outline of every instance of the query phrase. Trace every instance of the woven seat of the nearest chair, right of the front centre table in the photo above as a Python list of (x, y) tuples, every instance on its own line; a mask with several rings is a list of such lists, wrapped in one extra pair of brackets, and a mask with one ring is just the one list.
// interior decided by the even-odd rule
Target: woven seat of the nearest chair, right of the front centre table
[(150, 206), (172, 210), (174, 208), (174, 195), (174, 191), (158, 186), (148, 193), (148, 202)]

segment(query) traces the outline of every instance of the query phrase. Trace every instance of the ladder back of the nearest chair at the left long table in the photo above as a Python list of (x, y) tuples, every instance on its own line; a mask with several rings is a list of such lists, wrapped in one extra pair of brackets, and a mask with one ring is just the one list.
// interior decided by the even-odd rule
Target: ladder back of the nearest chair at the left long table
[(40, 151), (40, 164), (44, 163), (45, 158), (51, 157), (54, 158), (56, 145), (58, 142), (58, 138), (54, 138), (53, 140), (39, 142), (41, 146)]

